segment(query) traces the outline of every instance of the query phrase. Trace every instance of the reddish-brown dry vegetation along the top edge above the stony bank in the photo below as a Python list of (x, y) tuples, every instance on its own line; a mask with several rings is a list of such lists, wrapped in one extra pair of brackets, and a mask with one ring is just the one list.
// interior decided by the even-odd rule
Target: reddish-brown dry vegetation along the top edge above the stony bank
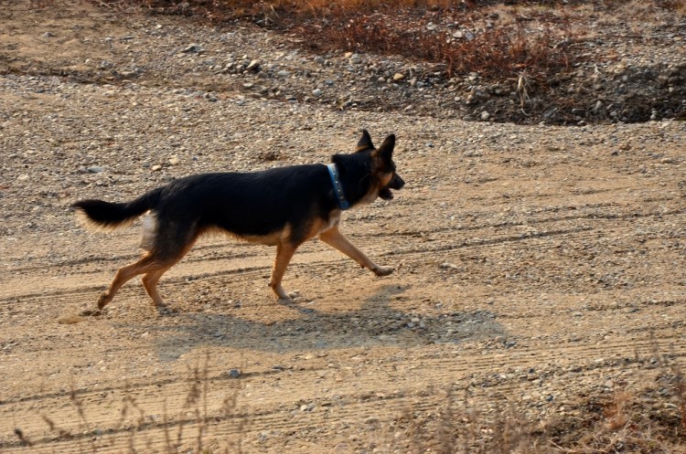
[[(455, 0), (100, 0), (155, 14), (199, 16), (211, 21), (250, 20), (306, 37), (312, 48), (343, 48), (402, 55), (443, 65), (448, 77), (478, 72), (483, 77), (524, 75), (544, 83), (583, 58), (570, 44), (586, 38), (570, 22), (606, 11), (638, 20), (657, 10), (686, 13), (685, 0), (611, 2), (498, 2)], [(510, 7), (515, 5), (514, 7)], [(589, 9), (590, 8), (590, 9)], [(495, 23), (498, 25), (495, 26)], [(459, 24), (468, 35), (456, 38)], [(316, 30), (316, 33), (313, 33)], [(458, 32), (461, 33), (461, 32)], [(316, 39), (312, 39), (316, 37)]]

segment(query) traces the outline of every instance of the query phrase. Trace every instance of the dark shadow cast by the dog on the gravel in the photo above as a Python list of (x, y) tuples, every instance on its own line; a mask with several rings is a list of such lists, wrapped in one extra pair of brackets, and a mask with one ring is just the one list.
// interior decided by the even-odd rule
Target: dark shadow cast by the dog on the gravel
[(155, 336), (162, 361), (176, 361), (203, 346), (286, 354), (379, 345), (456, 344), (505, 333), (488, 311), (437, 308), (417, 314), (394, 309), (391, 301), (404, 290), (384, 286), (353, 311), (323, 312), (307, 307), (306, 302), (282, 302), (284, 311), (300, 313), (284, 322), (255, 322), (228, 313), (179, 312), (173, 315), (178, 317), (173, 325), (155, 324), (146, 329), (164, 332)]

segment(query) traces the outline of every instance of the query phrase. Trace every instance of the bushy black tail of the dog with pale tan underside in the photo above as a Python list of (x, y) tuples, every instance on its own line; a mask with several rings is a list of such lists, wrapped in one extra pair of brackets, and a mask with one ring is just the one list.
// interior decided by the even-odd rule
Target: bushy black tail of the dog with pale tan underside
[(85, 199), (72, 205), (78, 210), (87, 225), (104, 230), (128, 226), (137, 216), (157, 206), (162, 188), (158, 187), (141, 195), (132, 202), (122, 204), (105, 202), (103, 200)]

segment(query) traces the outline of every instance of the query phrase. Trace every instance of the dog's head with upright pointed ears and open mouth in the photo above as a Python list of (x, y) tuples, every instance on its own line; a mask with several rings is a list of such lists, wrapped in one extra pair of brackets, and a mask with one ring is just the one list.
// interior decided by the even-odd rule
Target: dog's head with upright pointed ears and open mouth
[[(393, 193), (391, 189), (399, 190), (405, 185), (401, 175), (395, 169), (393, 163), (393, 149), (395, 148), (395, 135), (391, 134), (381, 143), (379, 148), (375, 148), (371, 143), (370, 133), (362, 131), (356, 153), (370, 153), (372, 185), (370, 187), (370, 201), (381, 197), (383, 200), (391, 200)], [(366, 197), (365, 197), (366, 198)]]

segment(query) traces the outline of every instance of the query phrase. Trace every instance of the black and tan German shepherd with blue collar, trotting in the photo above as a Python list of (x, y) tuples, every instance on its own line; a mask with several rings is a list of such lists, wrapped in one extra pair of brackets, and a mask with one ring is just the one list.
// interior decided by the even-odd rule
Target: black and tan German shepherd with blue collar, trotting
[(334, 154), (332, 164), (306, 164), (253, 173), (196, 174), (153, 189), (132, 202), (80, 200), (73, 207), (87, 223), (102, 229), (143, 220), (138, 261), (119, 269), (98, 301), (102, 309), (127, 280), (143, 275), (143, 286), (158, 308), (166, 306), (157, 282), (202, 234), (224, 232), (235, 238), (276, 246), (269, 286), (290, 300), (281, 286), (295, 249), (319, 237), (377, 276), (393, 271), (371, 261), (338, 231), (341, 212), (370, 204), (377, 197), (391, 200), (391, 189), (405, 184), (392, 160), (395, 135), (374, 148), (370, 133), (362, 132), (357, 150)]

